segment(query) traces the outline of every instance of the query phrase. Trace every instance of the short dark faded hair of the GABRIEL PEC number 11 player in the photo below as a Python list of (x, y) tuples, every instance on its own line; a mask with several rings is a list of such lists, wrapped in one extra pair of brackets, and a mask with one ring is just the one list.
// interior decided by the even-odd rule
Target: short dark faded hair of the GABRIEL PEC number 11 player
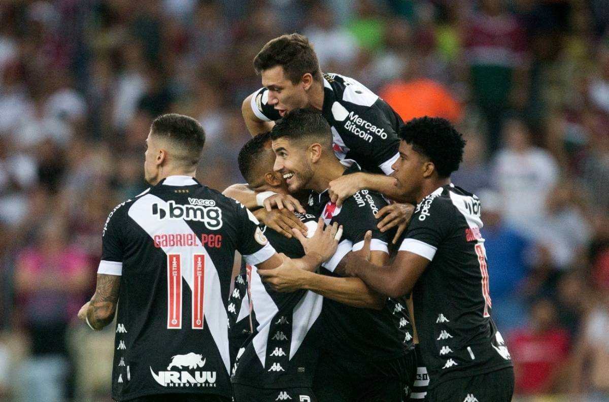
[(180, 147), (184, 151), (181, 157), (185, 164), (199, 164), (205, 146), (205, 130), (195, 119), (177, 113), (161, 115), (152, 122), (150, 132)]

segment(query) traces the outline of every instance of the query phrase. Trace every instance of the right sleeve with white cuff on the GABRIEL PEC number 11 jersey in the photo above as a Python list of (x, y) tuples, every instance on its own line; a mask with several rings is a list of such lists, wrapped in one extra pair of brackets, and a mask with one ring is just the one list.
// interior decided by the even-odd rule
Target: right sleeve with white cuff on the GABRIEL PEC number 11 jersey
[(237, 250), (247, 264), (257, 265), (271, 258), (275, 249), (259, 227), (258, 219), (245, 206), (237, 205), (239, 234)]

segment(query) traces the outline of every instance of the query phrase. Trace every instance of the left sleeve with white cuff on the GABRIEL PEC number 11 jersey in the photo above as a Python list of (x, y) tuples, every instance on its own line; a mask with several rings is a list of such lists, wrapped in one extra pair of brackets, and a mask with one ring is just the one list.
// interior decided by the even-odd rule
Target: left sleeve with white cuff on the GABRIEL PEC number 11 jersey
[(114, 208), (108, 215), (108, 219), (104, 225), (102, 232), (102, 259), (99, 261), (97, 273), (105, 275), (122, 275), (122, 260), (123, 260), (123, 233), (122, 228), (125, 226), (123, 204)]

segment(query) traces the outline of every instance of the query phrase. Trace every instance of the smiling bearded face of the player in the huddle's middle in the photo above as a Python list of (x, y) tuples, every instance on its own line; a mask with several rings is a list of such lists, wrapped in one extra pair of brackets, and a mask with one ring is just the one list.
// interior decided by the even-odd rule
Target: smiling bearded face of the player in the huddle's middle
[(313, 177), (311, 160), (308, 158), (308, 148), (298, 146), (287, 138), (273, 140), (275, 165), (273, 170), (279, 172), (286, 181), (289, 192), (297, 192), (308, 188)]

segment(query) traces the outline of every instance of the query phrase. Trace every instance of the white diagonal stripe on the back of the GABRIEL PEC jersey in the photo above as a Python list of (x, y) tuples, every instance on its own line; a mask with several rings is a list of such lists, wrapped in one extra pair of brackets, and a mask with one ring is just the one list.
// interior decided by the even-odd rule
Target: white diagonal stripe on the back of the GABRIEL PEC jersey
[[(164, 200), (157, 196), (153, 196), (152, 194), (146, 194), (146, 196), (136, 200), (128, 211), (128, 215), (150, 235), (150, 238), (154, 238), (155, 234), (163, 233), (194, 233), (182, 219), (166, 219), (162, 221), (152, 219), (150, 211), (152, 211), (152, 205), (154, 203), (158, 203), (161, 208), (169, 208), (167, 202)], [(161, 247), (161, 249), (163, 249), (166, 254), (181, 253), (187, 256), (192, 253), (200, 253), (205, 255), (205, 281), (203, 289), (203, 305), (205, 306), (205, 311), (203, 314), (209, 332), (216, 343), (216, 347), (220, 351), (220, 356), (222, 356), (222, 361), (224, 362), (228, 373), (230, 370), (230, 359), (228, 357), (228, 314), (222, 299), (220, 278), (218, 277), (216, 266), (207, 253), (207, 250), (205, 250), (205, 247), (203, 247), (197, 236), (194, 236), (194, 238), (197, 239), (197, 245), (195, 246)], [(186, 280), (186, 283), (188, 283), (191, 291), (194, 289), (192, 272), (193, 264), (182, 264), (182, 277)]]

